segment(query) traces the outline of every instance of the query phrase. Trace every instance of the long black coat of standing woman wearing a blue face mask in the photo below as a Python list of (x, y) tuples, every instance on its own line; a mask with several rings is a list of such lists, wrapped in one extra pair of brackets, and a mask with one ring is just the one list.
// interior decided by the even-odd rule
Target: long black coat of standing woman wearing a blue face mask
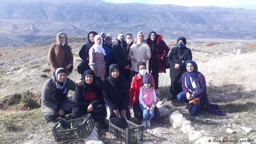
[[(170, 63), (170, 78), (171, 78), (170, 92), (172, 93), (172, 95), (177, 95), (179, 92), (182, 91), (182, 88), (181, 88), (182, 73), (186, 71), (187, 60), (192, 60), (191, 50), (187, 47), (184, 49), (184, 58), (182, 60), (177, 59), (176, 58), (178, 54), (177, 49), (178, 47), (173, 48), (168, 56), (168, 62)], [(181, 69), (180, 70), (175, 69), (174, 64), (180, 64)]]

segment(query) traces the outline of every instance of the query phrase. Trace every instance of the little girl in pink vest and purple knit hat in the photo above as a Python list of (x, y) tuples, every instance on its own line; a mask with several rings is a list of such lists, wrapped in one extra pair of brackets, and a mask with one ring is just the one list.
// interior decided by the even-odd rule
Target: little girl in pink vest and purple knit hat
[(150, 120), (154, 117), (155, 108), (153, 101), (157, 101), (157, 95), (152, 84), (152, 78), (150, 75), (144, 75), (143, 86), (140, 87), (139, 95), (140, 108), (143, 111), (142, 124), (144, 128), (151, 126)]

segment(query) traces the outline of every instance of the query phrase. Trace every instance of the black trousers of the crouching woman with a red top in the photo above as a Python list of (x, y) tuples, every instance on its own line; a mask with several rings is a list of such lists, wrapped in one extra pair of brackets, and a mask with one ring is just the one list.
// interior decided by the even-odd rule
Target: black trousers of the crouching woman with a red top
[[(72, 109), (72, 115), (74, 118), (80, 118), (82, 115), (87, 114), (87, 108), (89, 105), (75, 106)], [(105, 117), (104, 106), (94, 108), (89, 114), (97, 122), (100, 122)]]

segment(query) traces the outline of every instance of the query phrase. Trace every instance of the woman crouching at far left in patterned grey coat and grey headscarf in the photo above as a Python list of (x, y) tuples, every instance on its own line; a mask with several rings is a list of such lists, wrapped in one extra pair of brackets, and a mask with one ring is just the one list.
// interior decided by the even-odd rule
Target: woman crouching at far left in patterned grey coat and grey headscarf
[(68, 91), (75, 91), (76, 84), (67, 77), (64, 68), (57, 68), (53, 77), (46, 80), (41, 93), (41, 109), (45, 122), (70, 114), (73, 103), (68, 101)]

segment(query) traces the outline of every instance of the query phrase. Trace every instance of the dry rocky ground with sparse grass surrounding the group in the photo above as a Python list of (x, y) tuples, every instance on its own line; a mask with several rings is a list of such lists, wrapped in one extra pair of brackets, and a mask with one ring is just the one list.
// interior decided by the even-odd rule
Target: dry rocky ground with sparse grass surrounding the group
[[(33, 45), (0, 48), (0, 143), (55, 142), (51, 130), (55, 123), (45, 124), (39, 108), (20, 111), (14, 108), (18, 104), (8, 106), (4, 103), (14, 93), (25, 90), (30, 90), (36, 98), (39, 97), (42, 85), (51, 77), (47, 54), (53, 42), (54, 39), (51, 39)], [(84, 37), (70, 38), (75, 67), (80, 62), (78, 52), (85, 42)], [(169, 48), (175, 46), (174, 43), (167, 42)], [(191, 126), (205, 137), (216, 140), (246, 138), (256, 143), (255, 44), (189, 42), (187, 47), (191, 48), (193, 60), (206, 77), (209, 101), (218, 103), (220, 110), (225, 111), (227, 115), (213, 115), (203, 110), (194, 117), (183, 108), (184, 103), (166, 101), (166, 97), (170, 96), (169, 70), (159, 75), (159, 98), (165, 102), (166, 109), (170, 113), (178, 110), (186, 120), (191, 121)], [(233, 54), (237, 49), (242, 50), (241, 55)], [(43, 74), (47, 77), (41, 77)], [(69, 76), (72, 80), (78, 80), (79, 77), (75, 69)], [(74, 92), (71, 91), (70, 94), (74, 95)], [(71, 119), (71, 116), (68, 119)], [(135, 118), (131, 121), (140, 125), (140, 121)], [(188, 134), (184, 134), (181, 129), (173, 128), (168, 115), (151, 124), (150, 128), (144, 129), (144, 142), (195, 143), (195, 140), (189, 141)], [(254, 131), (246, 132), (242, 127), (252, 128)], [(227, 128), (234, 132), (229, 133)], [(123, 143), (109, 134), (108, 129), (100, 128), (98, 137), (105, 144)]]

